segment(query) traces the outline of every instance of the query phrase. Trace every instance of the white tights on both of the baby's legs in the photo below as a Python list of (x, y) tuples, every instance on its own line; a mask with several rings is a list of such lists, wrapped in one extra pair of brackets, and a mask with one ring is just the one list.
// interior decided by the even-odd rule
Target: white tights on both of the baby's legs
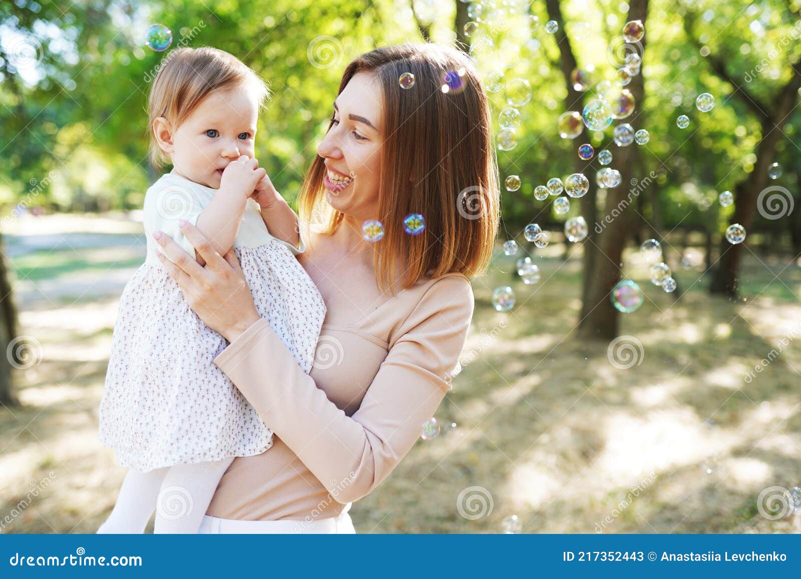
[(149, 472), (129, 470), (98, 533), (144, 533), (154, 510), (154, 533), (197, 533), (232, 460), (175, 464)]

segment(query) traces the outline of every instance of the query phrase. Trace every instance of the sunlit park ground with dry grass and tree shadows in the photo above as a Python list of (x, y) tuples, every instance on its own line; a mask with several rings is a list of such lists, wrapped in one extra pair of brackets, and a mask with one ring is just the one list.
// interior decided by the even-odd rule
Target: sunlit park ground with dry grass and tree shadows
[[(94, 533), (123, 478), (98, 405), (141, 225), (26, 217), (4, 234), (22, 333), (39, 349), (15, 371), (22, 406), (0, 408), (0, 532)], [(505, 255), (473, 280), (442, 432), (353, 505), (357, 532), (499, 533), (513, 514), (524, 533), (801, 531), (801, 516), (773, 516), (770, 490), (759, 501), (801, 485), (801, 263), (745, 251), (746, 299), (731, 303), (708, 296), (698, 267), (677, 267), (684, 293), (666, 294), (628, 254), (646, 300), (610, 352), (574, 338), (580, 260), (560, 253), (532, 252), (533, 286)], [(496, 312), (506, 284), (517, 305)]]

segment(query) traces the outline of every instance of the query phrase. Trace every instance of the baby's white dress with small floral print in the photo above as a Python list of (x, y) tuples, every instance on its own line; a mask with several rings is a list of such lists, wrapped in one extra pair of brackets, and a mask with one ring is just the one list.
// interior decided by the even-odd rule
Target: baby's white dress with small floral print
[[(215, 192), (168, 173), (145, 195), (147, 258), (119, 302), (100, 403), (100, 440), (125, 468), (147, 472), (272, 446), (268, 425), (213, 362), (227, 340), (191, 310), (155, 253), (151, 234), (159, 230), (195, 255), (178, 220), (194, 225)], [(325, 304), (293, 255), (304, 251), (303, 240), (295, 249), (270, 235), (258, 203), (248, 199), (233, 247), (256, 310), (308, 373)]]

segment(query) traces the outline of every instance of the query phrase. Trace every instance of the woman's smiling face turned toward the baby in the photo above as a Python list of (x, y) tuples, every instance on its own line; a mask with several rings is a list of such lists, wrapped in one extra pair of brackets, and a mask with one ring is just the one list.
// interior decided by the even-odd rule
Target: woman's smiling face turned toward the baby
[(334, 124), (317, 147), (328, 203), (356, 219), (378, 215), (383, 96), (370, 74), (353, 76), (334, 102)]

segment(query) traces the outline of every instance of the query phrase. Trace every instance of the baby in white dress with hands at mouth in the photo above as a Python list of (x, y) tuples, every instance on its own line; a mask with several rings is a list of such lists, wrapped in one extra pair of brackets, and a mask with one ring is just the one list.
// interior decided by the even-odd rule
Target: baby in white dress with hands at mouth
[(220, 255), (233, 247), (256, 310), (300, 368), (312, 368), (325, 304), (295, 258), (304, 251), (297, 216), (254, 158), (267, 97), (253, 70), (209, 47), (173, 50), (153, 82), (151, 160), (173, 168), (145, 195), (147, 258), (123, 290), (112, 337), (99, 436), (129, 470), (99, 533), (143, 533), (154, 510), (155, 533), (197, 532), (231, 460), (272, 446), (272, 431), (213, 363), (227, 341), (189, 308), (153, 231), (195, 255), (183, 219)]

